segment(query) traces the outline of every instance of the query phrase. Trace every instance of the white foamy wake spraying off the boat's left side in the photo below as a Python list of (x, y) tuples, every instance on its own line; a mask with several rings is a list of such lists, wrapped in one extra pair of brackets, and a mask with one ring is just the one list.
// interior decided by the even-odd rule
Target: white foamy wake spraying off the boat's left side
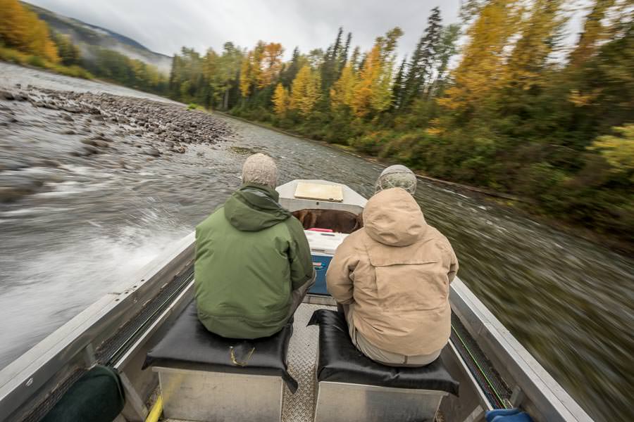
[(60, 248), (23, 252), (20, 261), (0, 257), (0, 369), (189, 233), (148, 225), (114, 235), (92, 225), (68, 234), (73, 241), (67, 237)]

